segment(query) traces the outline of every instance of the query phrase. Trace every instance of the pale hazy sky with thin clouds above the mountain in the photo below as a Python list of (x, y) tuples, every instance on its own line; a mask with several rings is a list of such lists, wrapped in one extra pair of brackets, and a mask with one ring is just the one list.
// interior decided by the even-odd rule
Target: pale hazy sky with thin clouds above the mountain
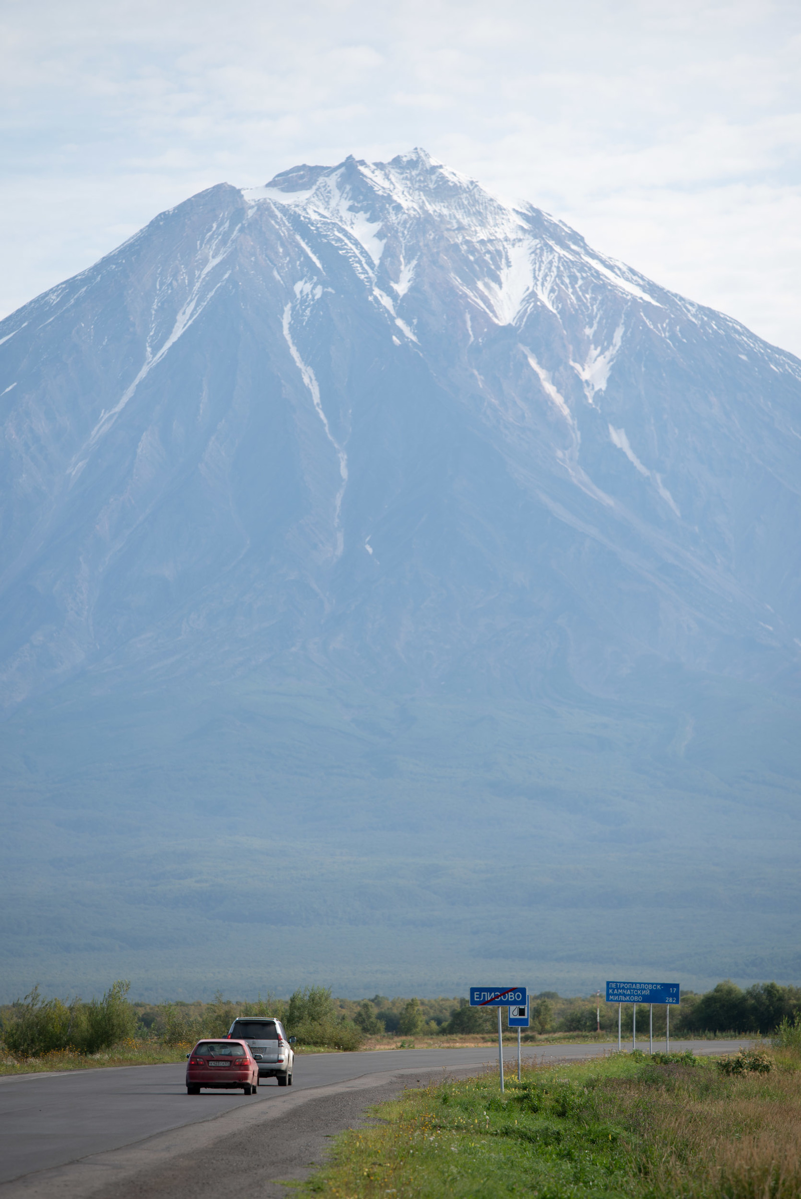
[(801, 355), (797, 0), (1, 0), (0, 314), (211, 183), (414, 145)]

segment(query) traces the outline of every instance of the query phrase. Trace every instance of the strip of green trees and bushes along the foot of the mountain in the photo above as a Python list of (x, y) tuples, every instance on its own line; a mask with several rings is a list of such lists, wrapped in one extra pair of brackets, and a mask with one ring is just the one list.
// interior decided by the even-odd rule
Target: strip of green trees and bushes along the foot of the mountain
[[(421, 999), (374, 995), (336, 999), (327, 987), (299, 988), (289, 999), (267, 994), (254, 1002), (223, 999), (133, 1002), (130, 983), (118, 981), (102, 999), (44, 999), (35, 987), (24, 999), (0, 1007), (0, 1041), (6, 1053), (34, 1058), (72, 1049), (94, 1054), (125, 1041), (164, 1046), (191, 1044), (204, 1036), (223, 1036), (236, 1016), (281, 1019), (300, 1047), (357, 1049), (368, 1037), (484, 1036), (498, 1028), (494, 1008), (470, 1007), (464, 996)], [(631, 1035), (632, 1005), (622, 1007), (622, 1031)], [(654, 1032), (664, 1036), (666, 1008), (654, 1006)], [(649, 1028), (649, 1005), (638, 1005), (640, 1036)], [(566, 998), (554, 990), (530, 996), (531, 1028), (526, 1040), (548, 1034), (616, 1032), (618, 1005), (597, 995)], [(501, 1008), (504, 1029), (506, 1008)], [(670, 1014), (671, 1035), (775, 1034), (783, 1023), (801, 1020), (801, 987), (776, 982), (741, 989), (730, 980), (704, 994), (682, 992)]]

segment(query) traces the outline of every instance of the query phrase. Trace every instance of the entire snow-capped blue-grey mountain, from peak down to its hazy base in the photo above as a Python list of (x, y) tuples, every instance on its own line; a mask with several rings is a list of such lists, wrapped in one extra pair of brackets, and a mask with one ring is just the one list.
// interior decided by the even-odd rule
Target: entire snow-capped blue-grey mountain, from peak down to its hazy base
[[(604, 904), (632, 970), (796, 970), (793, 355), (414, 151), (162, 213), (0, 324), (0, 393), (37, 977), (66, 946), (203, 989), (192, 946), (245, 920), (277, 989), (493, 956), (595, 988), (630, 960)], [(504, 870), (537, 880), (506, 958)]]

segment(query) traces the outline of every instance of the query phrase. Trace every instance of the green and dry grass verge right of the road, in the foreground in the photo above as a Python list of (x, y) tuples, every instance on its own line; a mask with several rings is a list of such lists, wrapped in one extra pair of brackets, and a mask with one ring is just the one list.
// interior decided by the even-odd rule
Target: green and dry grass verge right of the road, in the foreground
[(528, 1066), (406, 1091), (301, 1191), (332, 1199), (799, 1199), (801, 1058), (763, 1073), (671, 1054)]

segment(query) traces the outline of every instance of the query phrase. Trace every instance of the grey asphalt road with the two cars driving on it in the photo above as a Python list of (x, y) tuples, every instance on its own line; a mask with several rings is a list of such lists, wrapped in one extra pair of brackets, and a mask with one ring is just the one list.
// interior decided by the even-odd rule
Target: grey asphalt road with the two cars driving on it
[[(719, 1054), (743, 1043), (671, 1042), (670, 1048)], [(613, 1048), (543, 1046), (535, 1056), (556, 1062)], [(505, 1058), (513, 1070), (508, 1047)], [(182, 1065), (4, 1077), (0, 1199), (223, 1195), (229, 1182), (231, 1194), (258, 1185), (264, 1195), (285, 1195), (285, 1188), (265, 1187), (305, 1174), (320, 1161), (327, 1139), (357, 1122), (367, 1105), (444, 1071), (464, 1076), (484, 1065), (498, 1067), (489, 1046), (297, 1055), (294, 1085), (264, 1083), (255, 1097), (237, 1091), (188, 1096)]]

